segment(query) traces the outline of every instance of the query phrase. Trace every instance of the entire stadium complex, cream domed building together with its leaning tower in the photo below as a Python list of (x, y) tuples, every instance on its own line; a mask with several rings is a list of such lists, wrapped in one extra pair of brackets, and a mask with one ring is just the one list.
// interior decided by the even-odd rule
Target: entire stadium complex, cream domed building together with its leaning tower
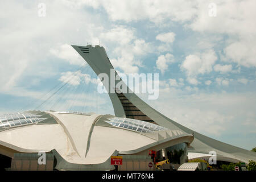
[[(114, 69), (104, 47), (72, 46), (100, 76), (110, 76)], [(114, 72), (115, 76), (118, 75)], [(116, 81), (116, 80), (115, 80)], [(120, 80), (118, 80), (120, 82)], [(122, 82), (122, 80), (121, 80)], [(131, 92), (115, 88), (116, 82), (104, 84), (115, 115), (95, 113), (27, 111), (0, 116), (0, 160), (11, 169), (39, 169), (38, 152), (46, 152), (44, 169), (112, 170), (111, 156), (136, 159), (138, 168), (147, 167), (148, 151), (158, 151), (157, 158), (184, 163), (187, 159), (210, 157), (217, 160), (245, 162), (256, 160), (255, 152), (244, 150), (197, 133), (172, 121)], [(175, 152), (181, 151), (179, 155)], [(174, 155), (175, 154), (175, 155)], [(32, 163), (34, 161), (34, 163)], [(121, 167), (122, 169), (125, 169)], [(127, 169), (127, 168), (126, 168)]]

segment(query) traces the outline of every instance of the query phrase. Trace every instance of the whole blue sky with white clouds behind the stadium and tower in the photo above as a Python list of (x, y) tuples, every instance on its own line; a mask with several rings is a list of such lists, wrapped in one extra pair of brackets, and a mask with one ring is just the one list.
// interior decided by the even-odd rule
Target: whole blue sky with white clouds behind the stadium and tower
[(119, 73), (159, 73), (159, 98), (139, 96), (160, 113), (251, 150), (255, 7), (254, 0), (3, 0), (0, 113), (114, 114), (108, 94), (97, 93), (97, 76), (70, 46), (100, 44)]

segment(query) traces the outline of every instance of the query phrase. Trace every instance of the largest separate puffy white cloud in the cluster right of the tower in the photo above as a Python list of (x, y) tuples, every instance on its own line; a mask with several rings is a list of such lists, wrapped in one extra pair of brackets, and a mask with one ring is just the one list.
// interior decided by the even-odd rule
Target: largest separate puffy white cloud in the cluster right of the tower
[(184, 70), (188, 76), (210, 73), (216, 60), (216, 53), (210, 49), (198, 55), (188, 55), (180, 68)]

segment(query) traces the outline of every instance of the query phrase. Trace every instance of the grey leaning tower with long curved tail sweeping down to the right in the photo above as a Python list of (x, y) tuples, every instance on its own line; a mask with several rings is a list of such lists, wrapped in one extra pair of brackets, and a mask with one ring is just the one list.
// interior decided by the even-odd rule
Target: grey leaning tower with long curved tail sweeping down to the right
[[(135, 93), (131, 92), (129, 87), (121, 80), (116, 71), (113, 72), (113, 65), (110, 63), (108, 55), (104, 47), (100, 46), (72, 46), (82, 58), (90, 65), (93, 71), (101, 78), (106, 90), (109, 92), (110, 100), (114, 108), (116, 117), (126, 117), (132, 119), (139, 119), (147, 122), (154, 122), (157, 125), (166, 127), (170, 130), (182, 131), (194, 136), (193, 142), (188, 147), (188, 152), (199, 153), (200, 158), (203, 156), (209, 157), (209, 152), (214, 151), (217, 155), (217, 160), (224, 160), (227, 162), (245, 162), (249, 160), (256, 161), (256, 153), (245, 150), (240, 147), (232, 146), (230, 144), (220, 142), (218, 140), (209, 138), (205, 135), (197, 133), (179, 123), (167, 118), (163, 114), (156, 111), (154, 108), (146, 104)], [(117, 77), (120, 80), (112, 81), (102, 80), (101, 73), (105, 73), (109, 78)], [(115, 85), (120, 82), (125, 86), (127, 93), (120, 93), (115, 88)], [(123, 89), (124, 90), (124, 89)], [(195, 155), (194, 155), (195, 156)]]

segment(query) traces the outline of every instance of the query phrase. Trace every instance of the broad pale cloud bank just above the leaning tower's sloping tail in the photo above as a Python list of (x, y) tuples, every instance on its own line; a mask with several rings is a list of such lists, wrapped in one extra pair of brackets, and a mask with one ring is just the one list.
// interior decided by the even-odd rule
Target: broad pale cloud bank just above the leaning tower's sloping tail
[[(244, 127), (241, 129), (242, 118), (242, 121), (249, 119), (248, 126), (255, 131), (255, 93), (188, 94), (191, 91), (191, 86), (183, 90), (172, 88), (171, 95), (170, 90), (160, 90), (159, 100), (151, 101), (150, 105), (154, 105), (156, 110), (181, 125), (212, 137), (220, 136), (224, 132), (236, 133), (237, 127), (240, 127), (241, 133), (247, 133)], [(163, 103), (167, 102), (172, 104), (163, 107)]]

